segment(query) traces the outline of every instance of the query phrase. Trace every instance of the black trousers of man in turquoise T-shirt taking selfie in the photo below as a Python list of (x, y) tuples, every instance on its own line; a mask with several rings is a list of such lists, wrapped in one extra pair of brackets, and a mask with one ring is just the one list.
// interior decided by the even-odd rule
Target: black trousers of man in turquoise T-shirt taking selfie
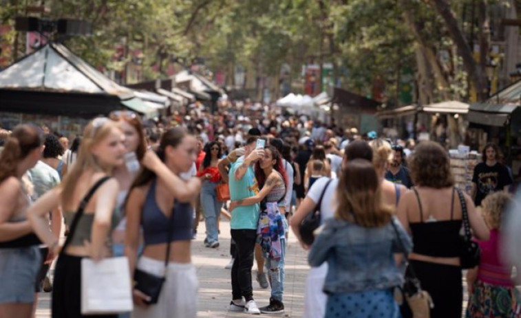
[(256, 229), (232, 229), (231, 238), (235, 241), (235, 262), (231, 268), (231, 292), (233, 299), (241, 296), (246, 302), (253, 299), (251, 268), (255, 251)]

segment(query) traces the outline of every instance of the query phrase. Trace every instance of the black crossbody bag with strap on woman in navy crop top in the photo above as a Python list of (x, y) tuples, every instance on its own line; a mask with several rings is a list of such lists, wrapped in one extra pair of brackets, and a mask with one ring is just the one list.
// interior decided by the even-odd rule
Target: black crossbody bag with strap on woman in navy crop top
[(137, 289), (141, 293), (150, 297), (149, 301), (145, 300), (145, 304), (157, 304), (159, 301), (159, 295), (163, 287), (164, 281), (167, 277), (168, 262), (170, 259), (170, 244), (173, 231), (173, 209), (169, 218), (169, 230), (168, 230), (168, 244), (167, 244), (167, 255), (164, 258), (164, 271), (162, 276), (154, 275), (142, 271), (140, 269), (134, 270), (134, 289)]

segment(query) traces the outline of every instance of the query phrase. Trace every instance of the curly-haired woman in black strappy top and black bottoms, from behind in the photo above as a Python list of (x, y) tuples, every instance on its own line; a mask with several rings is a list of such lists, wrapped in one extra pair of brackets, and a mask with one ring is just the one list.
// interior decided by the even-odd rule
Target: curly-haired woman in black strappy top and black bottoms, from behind
[[(413, 190), (398, 203), (398, 218), (412, 234), (414, 248), (409, 266), (434, 303), (432, 318), (460, 317), (462, 276), (460, 229), (462, 206), (458, 200), (447, 151), (434, 141), (422, 141), (410, 157)], [(489, 229), (474, 203), (463, 194), (474, 236), (488, 240)], [(440, 280), (443, 277), (443, 280)], [(409, 315), (405, 315), (405, 318)]]

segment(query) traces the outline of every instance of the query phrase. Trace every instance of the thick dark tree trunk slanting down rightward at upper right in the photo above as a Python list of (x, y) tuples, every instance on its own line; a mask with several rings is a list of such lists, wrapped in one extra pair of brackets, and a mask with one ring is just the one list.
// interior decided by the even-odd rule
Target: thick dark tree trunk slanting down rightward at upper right
[[(463, 60), (463, 67), (470, 78), (470, 82), (474, 85), (476, 93), (478, 94), (478, 100), (485, 100), (487, 98), (487, 81), (485, 70), (480, 67), (474, 60), (472, 49), (469, 43), (465, 40), (464, 34), (461, 32), (458, 26), (458, 21), (451, 11), (450, 5), (446, 0), (433, 0), (436, 10), (442, 16), (445, 21), (449, 35), (458, 47), (458, 54)], [(480, 8), (485, 5), (485, 0), (480, 1)]]

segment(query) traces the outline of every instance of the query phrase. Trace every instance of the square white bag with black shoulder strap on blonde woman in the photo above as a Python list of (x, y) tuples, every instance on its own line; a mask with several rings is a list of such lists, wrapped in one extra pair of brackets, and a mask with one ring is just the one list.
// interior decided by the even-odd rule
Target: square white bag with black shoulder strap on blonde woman
[[(110, 179), (103, 177), (87, 192), (71, 223), (70, 233), (60, 255), (70, 244), (78, 222), (87, 203), (96, 190)], [(82, 315), (118, 314), (132, 311), (129, 261), (126, 257), (105, 258), (94, 262), (90, 258), (81, 260), (81, 313)]]

